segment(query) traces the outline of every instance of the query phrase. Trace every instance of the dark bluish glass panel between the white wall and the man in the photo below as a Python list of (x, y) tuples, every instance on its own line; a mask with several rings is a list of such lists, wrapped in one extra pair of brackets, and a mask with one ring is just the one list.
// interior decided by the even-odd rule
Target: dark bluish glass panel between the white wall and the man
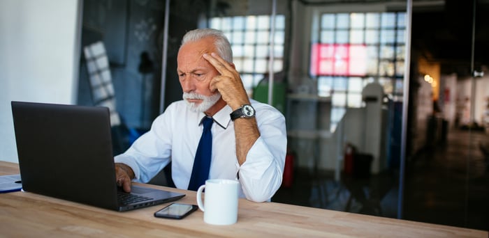
[(85, 0), (80, 4), (78, 104), (108, 106), (112, 122), (119, 118), (119, 123), (112, 123), (114, 154), (126, 150), (159, 115), (164, 3)]

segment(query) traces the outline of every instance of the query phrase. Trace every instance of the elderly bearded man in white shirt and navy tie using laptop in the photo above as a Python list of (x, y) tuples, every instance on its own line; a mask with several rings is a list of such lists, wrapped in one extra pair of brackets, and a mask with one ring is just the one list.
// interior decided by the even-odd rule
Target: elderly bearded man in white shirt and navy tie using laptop
[(241, 197), (258, 203), (272, 198), (282, 183), (285, 118), (249, 99), (232, 59), (221, 31), (184, 35), (177, 56), (183, 100), (170, 104), (149, 132), (115, 157), (117, 184), (124, 191), (131, 190), (131, 180), (148, 182), (171, 161), (178, 189), (235, 179)]

